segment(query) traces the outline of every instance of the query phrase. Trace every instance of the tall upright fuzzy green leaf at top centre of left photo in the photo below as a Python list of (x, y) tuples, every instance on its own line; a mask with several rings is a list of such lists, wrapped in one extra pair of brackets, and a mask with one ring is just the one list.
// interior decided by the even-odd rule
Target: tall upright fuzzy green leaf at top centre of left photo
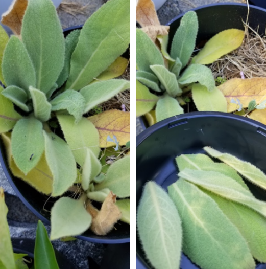
[(62, 71), (65, 55), (63, 31), (52, 1), (29, 1), (21, 36), (36, 71), (36, 85), (29, 86), (46, 94)]

